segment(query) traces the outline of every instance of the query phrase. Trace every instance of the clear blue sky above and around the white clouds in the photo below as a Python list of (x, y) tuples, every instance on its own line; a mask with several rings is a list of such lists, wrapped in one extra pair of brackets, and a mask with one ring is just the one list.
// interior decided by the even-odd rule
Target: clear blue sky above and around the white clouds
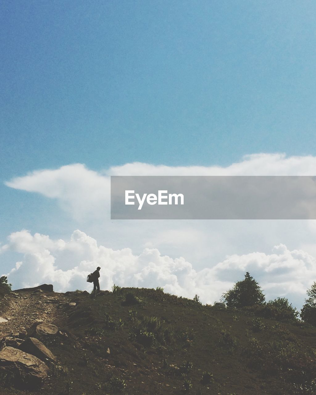
[[(131, 162), (229, 168), (245, 154), (316, 155), (315, 2), (30, 0), (0, 7), (2, 244), (23, 228), (54, 238), (78, 228), (127, 246), (110, 236), (110, 225), (105, 232), (61, 209), (60, 196), (4, 184), (35, 170), (80, 163), (99, 172)], [(140, 240), (130, 245), (154, 246)]]

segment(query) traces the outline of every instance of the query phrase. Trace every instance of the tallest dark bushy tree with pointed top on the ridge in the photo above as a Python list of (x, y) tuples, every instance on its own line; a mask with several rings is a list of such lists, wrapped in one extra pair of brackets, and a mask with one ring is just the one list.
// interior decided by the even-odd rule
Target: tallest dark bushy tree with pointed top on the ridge
[(228, 307), (245, 307), (264, 303), (265, 297), (259, 283), (246, 272), (242, 281), (237, 281), (234, 287), (222, 295), (222, 301)]

